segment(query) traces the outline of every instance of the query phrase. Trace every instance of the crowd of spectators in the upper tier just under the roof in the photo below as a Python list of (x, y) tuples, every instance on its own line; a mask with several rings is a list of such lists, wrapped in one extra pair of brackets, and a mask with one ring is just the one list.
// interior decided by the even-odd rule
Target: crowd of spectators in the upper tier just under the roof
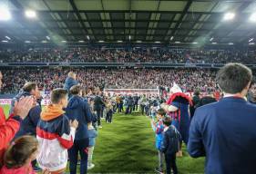
[(0, 63), (256, 63), (256, 51), (184, 48), (2, 48)]

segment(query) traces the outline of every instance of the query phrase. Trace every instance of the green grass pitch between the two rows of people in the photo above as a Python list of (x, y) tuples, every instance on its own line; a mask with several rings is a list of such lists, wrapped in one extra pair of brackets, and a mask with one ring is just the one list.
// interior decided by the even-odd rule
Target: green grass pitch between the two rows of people
[[(88, 173), (154, 173), (158, 153), (148, 118), (139, 113), (115, 114), (112, 124), (102, 126), (93, 156), (95, 168)], [(204, 173), (204, 158), (191, 159), (185, 146), (177, 163), (180, 174)]]

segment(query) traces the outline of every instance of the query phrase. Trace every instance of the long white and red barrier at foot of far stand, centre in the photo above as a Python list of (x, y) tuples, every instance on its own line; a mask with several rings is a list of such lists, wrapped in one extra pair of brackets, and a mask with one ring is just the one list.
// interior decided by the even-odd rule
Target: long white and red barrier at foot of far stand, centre
[(148, 95), (157, 95), (159, 96), (160, 92), (159, 89), (104, 89), (103, 91), (107, 95), (110, 94), (112, 96), (113, 94), (128, 94), (128, 95), (133, 95), (133, 94), (146, 94)]

